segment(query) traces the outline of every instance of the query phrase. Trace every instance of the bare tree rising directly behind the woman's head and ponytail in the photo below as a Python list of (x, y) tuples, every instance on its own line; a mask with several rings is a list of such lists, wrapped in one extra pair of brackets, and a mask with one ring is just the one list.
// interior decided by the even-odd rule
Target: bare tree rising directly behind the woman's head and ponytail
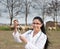
[(35, 10), (41, 10), (40, 13), (42, 14), (42, 19), (44, 21), (44, 15), (47, 7), (47, 0), (33, 0), (37, 5), (33, 6)]

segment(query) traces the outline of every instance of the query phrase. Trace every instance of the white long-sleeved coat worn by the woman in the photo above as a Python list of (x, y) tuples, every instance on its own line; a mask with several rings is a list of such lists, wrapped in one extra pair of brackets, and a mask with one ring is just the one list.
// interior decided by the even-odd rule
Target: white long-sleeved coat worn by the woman
[[(29, 30), (22, 34), (22, 36), (25, 36), (28, 39), (28, 43), (25, 45), (25, 49), (44, 49), (47, 36), (39, 31), (34, 37), (33, 37), (33, 30)], [(17, 31), (16, 34), (13, 32), (13, 37), (16, 42), (22, 42), (19, 38), (21, 34)]]

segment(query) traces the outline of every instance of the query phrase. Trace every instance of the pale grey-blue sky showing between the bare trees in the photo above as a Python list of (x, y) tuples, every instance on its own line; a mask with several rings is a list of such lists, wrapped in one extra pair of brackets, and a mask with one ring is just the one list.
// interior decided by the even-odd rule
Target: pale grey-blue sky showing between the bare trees
[[(43, 0), (41, 0), (41, 2), (42, 2)], [(45, 0), (45, 1), (51, 1), (51, 0)], [(4, 11), (4, 10), (6, 10), (5, 9), (6, 7), (4, 6), (4, 5), (2, 5), (1, 3), (0, 3), (0, 13), (1, 13), (1, 10), (2, 11)], [(33, 18), (35, 17), (35, 16), (40, 16), (40, 17), (42, 17), (41, 16), (41, 13), (40, 13), (40, 11), (41, 10), (35, 10), (35, 9), (33, 9), (32, 7), (30, 7), (30, 14), (28, 15), (28, 21), (27, 21), (27, 23), (28, 24), (31, 24), (32, 23), (32, 20), (33, 20)], [(21, 24), (25, 24), (25, 15), (24, 14), (20, 14), (20, 15), (17, 15), (16, 17), (14, 17), (13, 18), (13, 20), (14, 19), (18, 19), (19, 20), (19, 23), (21, 23)], [(60, 16), (58, 17), (58, 22), (60, 22)], [(46, 16), (45, 17), (45, 19), (44, 19), (44, 24), (46, 24), (46, 22), (47, 21), (53, 21), (53, 18), (52, 17), (50, 17), (50, 16)], [(8, 14), (8, 12), (3, 12), (3, 13), (1, 13), (1, 16), (0, 16), (0, 24), (9, 24), (10, 23), (10, 19), (9, 19), (9, 14)]]

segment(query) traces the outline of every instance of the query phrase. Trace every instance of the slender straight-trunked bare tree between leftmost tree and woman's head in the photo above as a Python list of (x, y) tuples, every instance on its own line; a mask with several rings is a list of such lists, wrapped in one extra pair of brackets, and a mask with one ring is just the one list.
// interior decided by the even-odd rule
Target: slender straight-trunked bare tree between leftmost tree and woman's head
[(22, 14), (25, 14), (25, 25), (27, 25), (27, 18), (28, 18), (28, 14), (30, 13), (30, 7), (31, 6), (31, 0), (23, 0), (23, 5), (22, 5), (22, 10), (23, 10), (23, 13)]

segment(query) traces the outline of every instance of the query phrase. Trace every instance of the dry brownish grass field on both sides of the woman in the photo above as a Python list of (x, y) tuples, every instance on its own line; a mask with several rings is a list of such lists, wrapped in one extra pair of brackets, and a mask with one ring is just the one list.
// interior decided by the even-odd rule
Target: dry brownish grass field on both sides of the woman
[[(17, 43), (12, 36), (13, 31), (0, 31), (0, 49), (24, 49), (24, 43)], [(60, 49), (60, 31), (47, 31), (50, 41), (48, 49)]]

